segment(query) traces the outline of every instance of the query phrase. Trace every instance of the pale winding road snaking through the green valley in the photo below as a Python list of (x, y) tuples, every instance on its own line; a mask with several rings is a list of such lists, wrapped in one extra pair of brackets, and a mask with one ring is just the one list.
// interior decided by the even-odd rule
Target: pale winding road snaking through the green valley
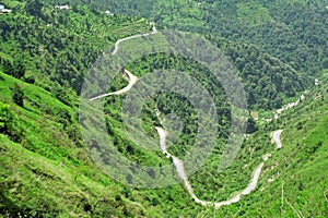
[[(140, 35), (134, 35), (134, 36), (130, 36), (130, 37), (127, 37), (127, 38), (122, 38), (122, 39), (119, 39), (118, 41), (116, 41), (115, 44), (115, 49), (114, 51), (112, 52), (112, 55), (114, 56), (118, 49), (119, 49), (119, 44), (122, 43), (122, 41), (126, 41), (126, 40), (130, 40), (132, 38), (138, 38), (138, 37), (144, 37), (144, 36), (149, 36), (149, 35), (152, 35), (152, 34), (156, 34), (157, 31), (155, 28), (155, 25), (153, 25), (153, 31), (151, 33), (148, 33), (148, 34), (140, 34)], [(113, 96), (113, 95), (121, 95), (124, 93), (127, 93), (129, 92), (133, 85), (136, 84), (136, 82), (138, 81), (138, 77), (134, 76), (131, 72), (125, 70), (125, 72), (127, 73), (127, 75), (129, 76), (129, 84), (128, 86), (126, 86), (125, 88), (120, 89), (120, 90), (117, 90), (117, 92), (114, 92), (114, 93), (108, 93), (108, 94), (103, 94), (103, 95), (99, 95), (99, 96), (96, 96), (94, 98), (91, 98), (90, 100), (96, 100), (96, 99), (99, 99), (99, 98), (104, 98), (106, 96)], [(156, 110), (156, 114), (157, 114), (157, 118), (160, 119), (160, 111)], [(161, 119), (160, 119), (161, 121)], [(161, 121), (161, 124), (162, 126), (165, 126), (164, 123)], [(177, 157), (171, 155), (167, 149), (166, 149), (166, 131), (163, 129), (163, 128), (159, 128), (156, 126), (155, 128), (157, 133), (159, 133), (159, 136), (160, 136), (160, 148), (162, 150), (162, 153), (167, 157), (167, 158), (172, 158), (173, 159), (173, 164), (175, 165), (176, 169), (177, 169), (177, 172), (178, 172), (178, 175), (180, 177), (180, 179), (184, 181), (184, 184), (185, 186), (187, 187), (190, 196), (194, 198), (194, 201), (202, 206), (214, 206), (215, 209), (220, 208), (221, 206), (223, 205), (231, 205), (233, 203), (237, 203), (238, 201), (241, 201), (242, 196), (243, 195), (247, 195), (249, 194), (251, 191), (254, 191), (256, 189), (256, 185), (257, 185), (257, 182), (258, 182), (258, 179), (259, 179), (259, 175), (261, 173), (261, 170), (262, 170), (262, 167), (265, 165), (265, 162), (268, 160), (268, 158), (270, 157), (270, 154), (269, 155), (266, 155), (263, 157), (263, 162), (261, 162), (255, 170), (254, 174), (253, 174), (253, 179), (251, 179), (251, 182), (248, 184), (247, 187), (245, 187), (243, 191), (241, 191), (238, 194), (236, 194), (235, 196), (226, 199), (226, 201), (222, 201), (222, 202), (207, 202), (207, 201), (202, 201), (202, 199), (199, 199), (195, 193), (194, 193), (194, 190), (192, 190), (192, 186), (188, 180), (188, 177), (186, 174), (186, 171), (185, 171), (185, 167), (184, 167), (184, 162), (178, 159)], [(281, 131), (282, 132), (282, 131)], [(277, 131), (274, 134), (273, 134), (273, 138), (274, 141), (277, 142), (277, 146), (278, 147), (282, 147), (281, 145), (281, 142), (280, 142), (280, 134), (281, 132)]]

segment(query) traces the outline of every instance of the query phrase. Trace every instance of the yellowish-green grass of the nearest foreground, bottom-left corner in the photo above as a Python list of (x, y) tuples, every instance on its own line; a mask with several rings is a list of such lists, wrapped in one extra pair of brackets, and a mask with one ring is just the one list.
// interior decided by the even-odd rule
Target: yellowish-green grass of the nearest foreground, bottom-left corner
[[(1, 135), (0, 141), (1, 178), (5, 178), (4, 181), (1, 180), (1, 183), (12, 203), (17, 203), (21, 207), (35, 208), (37, 211), (34, 213), (40, 213), (40, 215), (51, 213), (54, 209), (51, 207), (56, 206), (57, 211), (52, 211), (52, 215), (60, 217), (68, 214), (72, 217), (87, 214), (83, 207), (102, 198), (106, 198), (109, 204), (110, 202), (115, 204), (115, 196), (119, 189), (115, 184), (106, 186), (80, 174), (79, 170), (72, 167), (24, 149), (5, 136)], [(13, 160), (15, 160), (14, 166)], [(110, 205), (107, 209), (109, 207)], [(142, 209), (142, 206), (136, 204), (133, 210), (138, 208)]]

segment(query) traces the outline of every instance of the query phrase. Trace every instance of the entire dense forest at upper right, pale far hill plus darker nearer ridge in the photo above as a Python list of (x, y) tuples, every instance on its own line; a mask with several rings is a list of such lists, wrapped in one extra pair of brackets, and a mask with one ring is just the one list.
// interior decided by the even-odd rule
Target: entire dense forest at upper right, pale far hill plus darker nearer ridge
[[(148, 17), (157, 26), (199, 33), (218, 43), (251, 90), (250, 107), (279, 108), (284, 97), (295, 97), (327, 69), (328, 12), (323, 1), (72, 1), (77, 2)], [(253, 76), (259, 73), (261, 81)]]

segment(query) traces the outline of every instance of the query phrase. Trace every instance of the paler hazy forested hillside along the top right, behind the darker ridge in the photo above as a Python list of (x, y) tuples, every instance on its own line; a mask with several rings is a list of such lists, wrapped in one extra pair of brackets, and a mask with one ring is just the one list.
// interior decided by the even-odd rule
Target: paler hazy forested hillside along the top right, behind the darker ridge
[(99, 0), (84, 2), (159, 25), (258, 46), (311, 75), (328, 68), (327, 0)]

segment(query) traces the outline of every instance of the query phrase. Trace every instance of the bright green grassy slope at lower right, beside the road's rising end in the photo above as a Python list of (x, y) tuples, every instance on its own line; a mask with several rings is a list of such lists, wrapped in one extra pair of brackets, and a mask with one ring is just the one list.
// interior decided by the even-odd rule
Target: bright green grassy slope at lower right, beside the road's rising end
[[(298, 213), (304, 217), (327, 217), (327, 85), (318, 87), (300, 106), (284, 112), (277, 123), (250, 138), (267, 149), (270, 145), (263, 135), (270, 130), (284, 130), (283, 148), (271, 150), (272, 157), (265, 165), (257, 191), (233, 206), (221, 208), (221, 216), (295, 217)], [(272, 178), (273, 182), (268, 182)]]

